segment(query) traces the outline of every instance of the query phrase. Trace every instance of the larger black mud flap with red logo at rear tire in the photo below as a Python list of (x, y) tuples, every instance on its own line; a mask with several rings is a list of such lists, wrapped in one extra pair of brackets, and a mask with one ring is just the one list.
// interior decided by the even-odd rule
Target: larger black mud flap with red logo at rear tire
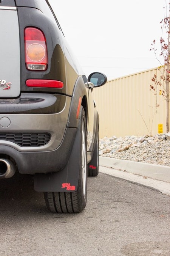
[(56, 173), (34, 175), (34, 189), (38, 192), (74, 192), (77, 190), (80, 168), (80, 127), (65, 168)]

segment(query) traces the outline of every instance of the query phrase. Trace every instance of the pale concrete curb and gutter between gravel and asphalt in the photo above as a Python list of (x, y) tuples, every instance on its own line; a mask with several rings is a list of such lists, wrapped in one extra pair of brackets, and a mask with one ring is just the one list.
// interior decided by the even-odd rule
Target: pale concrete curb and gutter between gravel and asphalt
[(170, 167), (99, 157), (99, 171), (170, 195)]

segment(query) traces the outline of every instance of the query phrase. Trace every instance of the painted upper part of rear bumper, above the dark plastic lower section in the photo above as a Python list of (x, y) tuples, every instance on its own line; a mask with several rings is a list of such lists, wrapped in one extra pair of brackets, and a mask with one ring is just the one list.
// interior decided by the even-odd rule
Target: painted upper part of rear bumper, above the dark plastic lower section
[[(0, 147), (8, 146), (17, 152), (53, 151), (60, 146), (67, 127), (71, 97), (53, 94), (22, 94), (17, 99), (0, 102)], [(22, 143), (11, 140), (25, 134), (49, 135), (47, 143)], [(9, 138), (9, 140), (8, 140)]]

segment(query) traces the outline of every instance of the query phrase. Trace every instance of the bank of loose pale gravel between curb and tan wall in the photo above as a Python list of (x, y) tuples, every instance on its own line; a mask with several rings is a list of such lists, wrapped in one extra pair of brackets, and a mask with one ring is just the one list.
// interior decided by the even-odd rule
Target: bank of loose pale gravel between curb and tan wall
[(99, 155), (170, 166), (170, 133), (144, 137), (104, 137), (99, 140)]

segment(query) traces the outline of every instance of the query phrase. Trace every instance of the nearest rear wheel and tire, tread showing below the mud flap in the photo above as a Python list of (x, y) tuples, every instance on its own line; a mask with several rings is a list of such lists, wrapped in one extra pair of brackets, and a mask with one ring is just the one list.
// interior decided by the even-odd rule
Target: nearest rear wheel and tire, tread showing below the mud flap
[[(77, 191), (75, 192), (44, 192), (46, 207), (54, 213), (81, 212), (87, 203), (87, 129), (83, 107), (80, 110), (79, 126), (81, 131), (80, 166)], [(71, 171), (71, 170), (70, 170)]]

